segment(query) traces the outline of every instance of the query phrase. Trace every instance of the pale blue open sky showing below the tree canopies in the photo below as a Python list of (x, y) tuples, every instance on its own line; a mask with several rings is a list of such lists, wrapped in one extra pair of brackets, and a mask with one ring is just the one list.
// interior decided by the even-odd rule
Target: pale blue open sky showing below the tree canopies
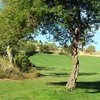
[[(42, 42), (48, 41), (45, 35), (39, 35), (39, 36), (36, 37), (36, 39), (41, 40)], [(89, 45), (95, 46), (96, 51), (100, 51), (100, 29), (95, 32), (93, 40), (94, 40), (94, 43), (91, 43)], [(51, 42), (51, 41), (48, 41), (48, 42)]]

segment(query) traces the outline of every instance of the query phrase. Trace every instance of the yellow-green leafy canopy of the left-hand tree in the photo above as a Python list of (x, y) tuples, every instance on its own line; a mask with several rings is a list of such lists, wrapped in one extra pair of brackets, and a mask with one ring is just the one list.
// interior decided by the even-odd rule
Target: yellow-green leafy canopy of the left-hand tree
[[(11, 47), (13, 51), (15, 45), (19, 45), (20, 40), (29, 39), (38, 21), (35, 16), (31, 16), (31, 1), (2, 0), (2, 5), (0, 11), (0, 49), (1, 52), (3, 51), (1, 54), (5, 54), (4, 51), (7, 47)], [(7, 52), (7, 54), (9, 53)]]

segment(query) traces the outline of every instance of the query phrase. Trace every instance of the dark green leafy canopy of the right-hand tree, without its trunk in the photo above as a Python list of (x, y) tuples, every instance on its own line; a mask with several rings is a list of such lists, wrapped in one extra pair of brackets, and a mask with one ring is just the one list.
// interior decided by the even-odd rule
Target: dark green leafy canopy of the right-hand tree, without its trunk
[[(79, 28), (80, 42), (89, 42), (92, 29), (100, 25), (100, 3), (98, 0), (44, 0), (49, 11), (42, 23), (42, 32), (53, 34), (57, 40), (73, 40), (75, 28)], [(49, 31), (49, 32), (48, 32)]]

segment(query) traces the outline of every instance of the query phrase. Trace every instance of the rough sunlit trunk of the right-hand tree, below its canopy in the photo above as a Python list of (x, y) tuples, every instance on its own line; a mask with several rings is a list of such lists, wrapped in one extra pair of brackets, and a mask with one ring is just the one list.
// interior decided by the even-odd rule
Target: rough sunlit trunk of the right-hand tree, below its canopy
[(72, 41), (72, 45), (71, 45), (71, 56), (72, 56), (72, 72), (70, 75), (70, 78), (66, 84), (66, 87), (69, 90), (73, 90), (76, 87), (76, 80), (78, 77), (78, 73), (79, 73), (79, 60), (78, 60), (78, 37), (77, 35), (75, 36), (75, 38)]

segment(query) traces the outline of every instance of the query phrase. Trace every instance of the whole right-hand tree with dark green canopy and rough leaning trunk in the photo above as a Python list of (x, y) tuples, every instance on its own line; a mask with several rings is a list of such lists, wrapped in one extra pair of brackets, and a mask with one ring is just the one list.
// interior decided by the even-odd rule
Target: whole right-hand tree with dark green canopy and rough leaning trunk
[(98, 0), (43, 0), (48, 9), (43, 14), (42, 34), (52, 34), (60, 43), (71, 43), (72, 72), (66, 87), (75, 89), (79, 73), (78, 45), (92, 42), (92, 29), (100, 25)]

